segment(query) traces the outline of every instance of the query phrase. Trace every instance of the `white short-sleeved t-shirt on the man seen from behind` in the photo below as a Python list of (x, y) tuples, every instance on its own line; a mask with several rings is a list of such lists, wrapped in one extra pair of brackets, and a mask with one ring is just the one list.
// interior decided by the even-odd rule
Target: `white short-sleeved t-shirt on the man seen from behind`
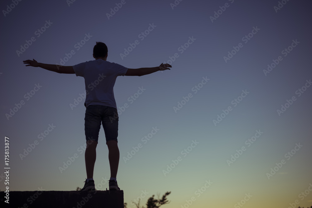
[(128, 68), (116, 63), (97, 59), (73, 66), (76, 76), (85, 78), (85, 107), (110, 106), (117, 109), (114, 85), (118, 76), (124, 76)]

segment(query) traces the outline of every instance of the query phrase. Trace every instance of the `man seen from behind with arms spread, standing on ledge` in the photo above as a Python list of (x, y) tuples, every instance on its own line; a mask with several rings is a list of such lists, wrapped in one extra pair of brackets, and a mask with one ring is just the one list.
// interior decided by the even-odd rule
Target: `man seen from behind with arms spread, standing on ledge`
[(35, 59), (23, 61), (26, 66), (65, 74), (76, 74), (85, 79), (85, 168), (87, 178), (81, 191), (95, 190), (93, 170), (96, 159), (101, 122), (105, 132), (106, 144), (109, 150), (110, 180), (109, 190), (120, 190), (116, 176), (119, 164), (118, 113), (113, 87), (118, 76), (142, 76), (172, 67), (170, 64), (160, 64), (159, 67), (128, 69), (119, 64), (106, 61), (108, 49), (105, 43), (96, 42), (93, 48), (93, 61), (87, 61), (74, 66), (38, 63)]

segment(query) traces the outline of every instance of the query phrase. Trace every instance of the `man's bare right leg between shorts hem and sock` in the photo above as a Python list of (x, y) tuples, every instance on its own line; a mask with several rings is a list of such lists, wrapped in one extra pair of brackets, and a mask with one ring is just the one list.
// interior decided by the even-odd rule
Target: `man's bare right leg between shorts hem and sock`
[(119, 164), (119, 149), (115, 140), (110, 140), (107, 143), (108, 146), (108, 159), (110, 161), (110, 177), (115, 178), (117, 176), (118, 164)]

